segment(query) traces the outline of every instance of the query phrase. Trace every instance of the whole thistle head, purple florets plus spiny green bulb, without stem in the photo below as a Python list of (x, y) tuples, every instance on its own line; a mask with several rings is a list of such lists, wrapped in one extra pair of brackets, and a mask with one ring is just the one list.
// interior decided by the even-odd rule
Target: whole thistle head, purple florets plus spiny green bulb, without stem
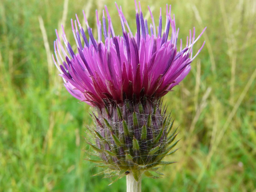
[(197, 38), (195, 28), (193, 35), (190, 31), (186, 46), (183, 48), (180, 40), (178, 51), (179, 29), (176, 30), (175, 17), (171, 16), (171, 6), (166, 5), (165, 28), (162, 27), (161, 8), (156, 27), (148, 7), (152, 22), (148, 28), (140, 2), (139, 10), (136, 0), (135, 7), (137, 31), (132, 33), (121, 6), (116, 4), (122, 36), (115, 35), (106, 6), (107, 18), (103, 10), (102, 25), (96, 10), (98, 39), (93, 37), (85, 13), (89, 38), (76, 15), (71, 25), (78, 53), (71, 48), (62, 26), (67, 51), (56, 30), (56, 59), (53, 56), (53, 60), (57, 68), (60, 67), (60, 76), (68, 92), (97, 110), (97, 115), (92, 114), (96, 129), (89, 128), (96, 144), (90, 145), (102, 159), (101, 166), (113, 171), (109, 176), (122, 176), (126, 172), (139, 181), (142, 173), (155, 177), (150, 171), (156, 171), (156, 165), (173, 163), (162, 162), (164, 156), (175, 152), (170, 150), (178, 141), (169, 146), (176, 135), (174, 131), (168, 136), (173, 121), (166, 108), (162, 108), (160, 99), (187, 76), (190, 63), (204, 44), (194, 57), (192, 47), (204, 31)]

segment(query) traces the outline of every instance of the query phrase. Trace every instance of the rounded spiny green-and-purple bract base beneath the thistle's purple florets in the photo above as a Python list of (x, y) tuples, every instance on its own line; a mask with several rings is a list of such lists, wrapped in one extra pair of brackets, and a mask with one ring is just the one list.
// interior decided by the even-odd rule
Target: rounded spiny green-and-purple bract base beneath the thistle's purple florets
[[(107, 173), (106, 177), (119, 178), (132, 172), (136, 180), (143, 173), (157, 178), (161, 174), (157, 172), (157, 165), (174, 163), (162, 161), (164, 156), (176, 151), (172, 148), (178, 141), (171, 145), (177, 129), (169, 134), (173, 121), (160, 100), (126, 100), (122, 104), (105, 102), (105, 108), (97, 112), (98, 116), (93, 114), (96, 129), (89, 128), (96, 143), (89, 144), (101, 161), (90, 161), (110, 169), (102, 172)], [(152, 174), (152, 171), (157, 174)]]

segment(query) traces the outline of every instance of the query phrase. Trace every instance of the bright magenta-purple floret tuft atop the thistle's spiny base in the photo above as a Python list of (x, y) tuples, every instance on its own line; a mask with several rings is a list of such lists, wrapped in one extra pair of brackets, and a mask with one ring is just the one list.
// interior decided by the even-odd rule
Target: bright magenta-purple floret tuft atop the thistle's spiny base
[[(60, 66), (58, 67), (60, 76), (63, 77), (66, 89), (75, 98), (98, 108), (104, 107), (105, 99), (116, 103), (122, 103), (125, 99), (132, 100), (134, 96), (138, 101), (145, 96), (158, 100), (187, 76), (190, 63), (204, 44), (194, 57), (192, 47), (204, 31), (195, 39), (194, 28), (193, 35), (190, 31), (187, 37), (186, 46), (183, 48), (180, 40), (180, 48), (177, 50), (179, 29), (176, 30), (175, 17), (171, 16), (171, 6), (166, 5), (165, 28), (162, 28), (161, 9), (159, 25), (156, 27), (148, 7), (152, 21), (148, 28), (148, 21), (143, 18), (140, 2), (140, 10), (136, 0), (135, 7), (137, 31), (132, 33), (121, 6), (119, 8), (116, 4), (123, 30), (122, 36), (115, 35), (106, 6), (107, 18), (103, 10), (103, 25), (96, 10), (98, 39), (93, 37), (92, 28), (85, 14), (84, 20), (89, 38), (85, 35), (78, 17), (76, 16), (75, 22), (71, 20), (78, 53), (71, 48), (63, 27), (62, 39), (66, 48), (61, 44), (56, 30), (57, 39), (54, 42), (56, 59), (53, 56), (53, 60), (57, 67)], [(171, 38), (168, 39), (170, 35)]]

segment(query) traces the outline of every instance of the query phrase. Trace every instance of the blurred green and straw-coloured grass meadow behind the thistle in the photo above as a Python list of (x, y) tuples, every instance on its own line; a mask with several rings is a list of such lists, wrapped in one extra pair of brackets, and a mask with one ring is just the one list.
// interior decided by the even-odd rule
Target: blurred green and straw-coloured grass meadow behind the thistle
[[(133, 0), (117, 3), (135, 31)], [(150, 5), (158, 22), (166, 3), (183, 41), (189, 29), (199, 34), (207, 26), (194, 54), (206, 45), (164, 96), (182, 138), (166, 160), (178, 163), (165, 166), (161, 179), (144, 178), (142, 191), (255, 192), (256, 2), (141, 0), (144, 16)], [(108, 186), (110, 180), (92, 177), (98, 168), (83, 160), (91, 109), (69, 95), (51, 58), (54, 29), (62, 23), (74, 44), (70, 18), (82, 20), (84, 9), (95, 28), (95, 9), (101, 13), (105, 4), (120, 34), (111, 0), (1, 0), (0, 191), (125, 191), (125, 178)]]

